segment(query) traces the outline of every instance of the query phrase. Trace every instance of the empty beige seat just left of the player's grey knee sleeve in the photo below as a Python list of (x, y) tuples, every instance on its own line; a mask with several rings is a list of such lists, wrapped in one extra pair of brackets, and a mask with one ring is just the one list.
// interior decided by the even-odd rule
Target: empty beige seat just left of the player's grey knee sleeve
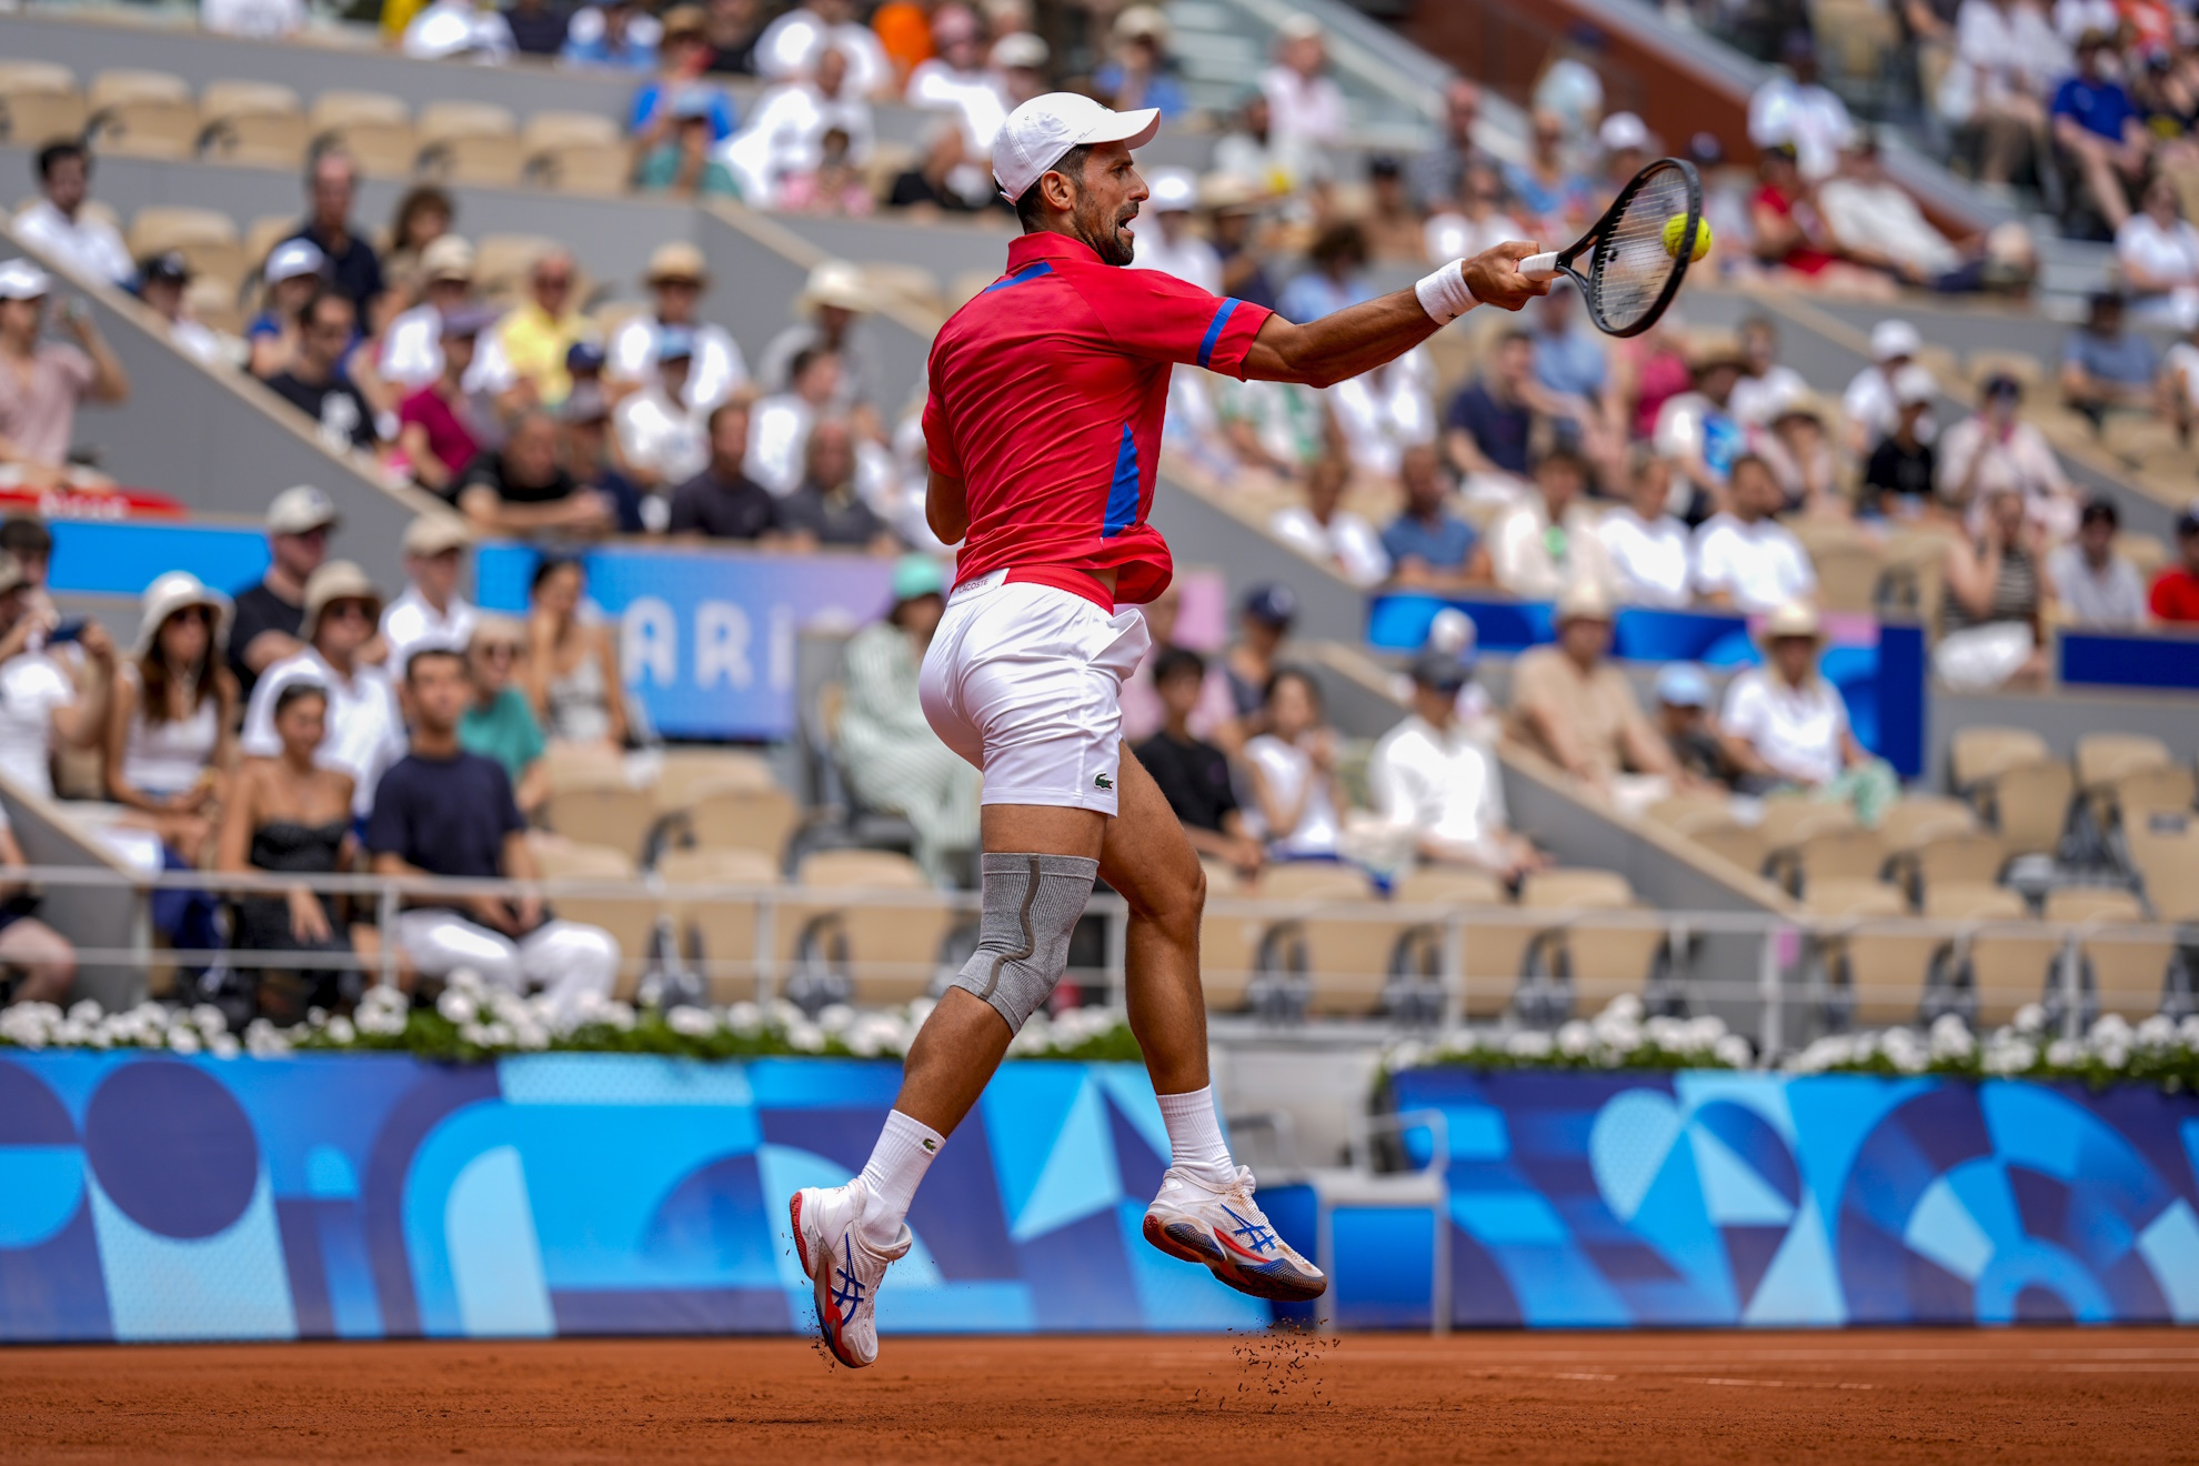
[[(781, 906), (781, 960), (794, 960), (807, 945), (811, 960), (847, 971), (858, 1004), (924, 996), (954, 910), (930, 890), (917, 862), (888, 851), (818, 851), (794, 879), (800, 892)], [(847, 899), (855, 892), (913, 899), (862, 906)]]

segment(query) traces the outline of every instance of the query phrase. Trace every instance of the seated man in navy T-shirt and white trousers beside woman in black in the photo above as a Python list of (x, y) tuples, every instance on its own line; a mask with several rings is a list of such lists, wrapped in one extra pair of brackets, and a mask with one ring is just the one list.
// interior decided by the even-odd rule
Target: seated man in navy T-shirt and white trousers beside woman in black
[[(473, 701), (466, 659), (449, 646), (422, 646), (402, 677), (411, 752), (389, 765), (374, 789), (367, 815), (374, 873), (534, 881), (534, 853), (510, 776), (495, 758), (468, 754), (457, 743), (457, 719)], [(411, 895), (398, 914), (398, 947), (431, 978), (473, 967), (504, 991), (543, 987), (567, 1020), (609, 998), (618, 978), (611, 934), (550, 919), (532, 890)]]

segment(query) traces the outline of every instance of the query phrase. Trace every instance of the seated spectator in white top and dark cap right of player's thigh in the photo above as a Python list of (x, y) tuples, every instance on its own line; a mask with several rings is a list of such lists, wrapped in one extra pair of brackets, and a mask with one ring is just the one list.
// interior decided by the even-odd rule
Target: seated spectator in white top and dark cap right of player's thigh
[(1517, 881), (1548, 859), (1511, 831), (1498, 760), (1458, 721), (1458, 692), (1471, 677), (1449, 653), (1412, 664), (1412, 712), (1374, 745), (1368, 793), (1423, 862)]

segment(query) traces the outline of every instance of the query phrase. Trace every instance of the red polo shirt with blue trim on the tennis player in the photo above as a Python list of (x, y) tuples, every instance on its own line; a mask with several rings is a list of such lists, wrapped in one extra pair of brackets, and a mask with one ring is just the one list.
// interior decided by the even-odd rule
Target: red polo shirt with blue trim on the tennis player
[(961, 479), (970, 499), (954, 582), (1007, 569), (1108, 611), (1106, 591), (1078, 571), (1115, 569), (1119, 604), (1168, 589), (1168, 543), (1146, 523), (1168, 369), (1242, 378), (1269, 314), (1174, 275), (1102, 264), (1067, 235), (1009, 244), (1007, 275), (932, 341), (924, 442), (932, 470)]

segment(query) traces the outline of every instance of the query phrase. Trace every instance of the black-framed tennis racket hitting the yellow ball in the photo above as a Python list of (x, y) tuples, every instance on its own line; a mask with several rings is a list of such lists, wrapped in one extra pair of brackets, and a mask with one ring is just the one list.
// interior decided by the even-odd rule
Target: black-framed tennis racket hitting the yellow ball
[[(1665, 248), (1665, 226), (1673, 218), (1680, 251)], [(1528, 279), (1566, 275), (1581, 288), (1588, 319), (1607, 336), (1638, 336), (1671, 306), (1695, 253), (1702, 222), (1702, 180), (1693, 163), (1658, 158), (1618, 191), (1603, 218), (1570, 248), (1528, 255), (1520, 273)], [(1588, 273), (1574, 262), (1588, 255)]]

